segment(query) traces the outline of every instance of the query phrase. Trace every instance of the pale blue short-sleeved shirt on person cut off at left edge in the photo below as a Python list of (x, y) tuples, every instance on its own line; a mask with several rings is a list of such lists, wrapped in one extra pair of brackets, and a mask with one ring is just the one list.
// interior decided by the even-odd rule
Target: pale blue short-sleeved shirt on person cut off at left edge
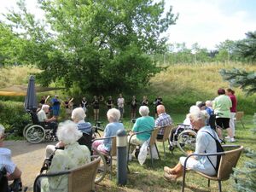
[(9, 174), (15, 172), (16, 165), (11, 160), (11, 150), (9, 148), (0, 148), (0, 166), (5, 167)]

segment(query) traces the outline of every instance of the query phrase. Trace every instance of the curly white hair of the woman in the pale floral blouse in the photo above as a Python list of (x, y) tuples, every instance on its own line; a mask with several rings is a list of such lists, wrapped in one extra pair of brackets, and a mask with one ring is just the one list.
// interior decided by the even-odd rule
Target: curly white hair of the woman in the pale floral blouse
[(67, 120), (59, 125), (57, 137), (64, 144), (73, 144), (82, 137), (82, 132), (79, 131), (78, 125)]

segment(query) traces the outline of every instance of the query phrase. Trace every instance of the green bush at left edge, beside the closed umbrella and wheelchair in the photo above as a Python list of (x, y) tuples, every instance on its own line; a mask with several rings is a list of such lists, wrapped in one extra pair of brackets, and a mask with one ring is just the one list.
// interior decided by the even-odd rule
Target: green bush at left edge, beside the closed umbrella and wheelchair
[(31, 119), (23, 105), (23, 102), (0, 102), (0, 123), (4, 125), (6, 131), (15, 127), (19, 136), (22, 136), (24, 126)]

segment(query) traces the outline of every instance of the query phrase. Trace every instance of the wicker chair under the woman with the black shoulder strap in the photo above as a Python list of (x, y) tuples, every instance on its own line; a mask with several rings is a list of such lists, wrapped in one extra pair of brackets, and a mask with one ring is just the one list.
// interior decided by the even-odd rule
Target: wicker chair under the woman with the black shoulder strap
[[(237, 161), (240, 158), (241, 152), (243, 150), (243, 146), (231, 146), (231, 145), (226, 145), (223, 146), (224, 152), (221, 153), (215, 153), (215, 154), (189, 154), (189, 156), (186, 158), (184, 162), (184, 167), (183, 167), (183, 186), (182, 186), (182, 192), (184, 191), (185, 187), (185, 177), (186, 177), (186, 165), (187, 165), (187, 160), (189, 160), (189, 157), (191, 156), (216, 156), (216, 155), (221, 155), (219, 167), (218, 167), (218, 173), (216, 176), (208, 176), (204, 173), (201, 172), (196, 172), (200, 174), (202, 177), (206, 177), (208, 179), (208, 187), (210, 187), (210, 181), (218, 181), (218, 191), (221, 192), (221, 182), (228, 180), (230, 178), (230, 174), (233, 172), (233, 168), (236, 167)], [(226, 150), (227, 148), (235, 148), (231, 150)]]

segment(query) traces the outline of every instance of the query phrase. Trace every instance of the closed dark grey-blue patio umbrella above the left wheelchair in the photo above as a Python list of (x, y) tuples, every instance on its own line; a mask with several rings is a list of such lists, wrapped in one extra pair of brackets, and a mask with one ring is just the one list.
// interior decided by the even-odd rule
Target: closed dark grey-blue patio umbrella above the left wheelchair
[(36, 111), (38, 108), (34, 76), (30, 76), (28, 81), (24, 108), (28, 111)]

